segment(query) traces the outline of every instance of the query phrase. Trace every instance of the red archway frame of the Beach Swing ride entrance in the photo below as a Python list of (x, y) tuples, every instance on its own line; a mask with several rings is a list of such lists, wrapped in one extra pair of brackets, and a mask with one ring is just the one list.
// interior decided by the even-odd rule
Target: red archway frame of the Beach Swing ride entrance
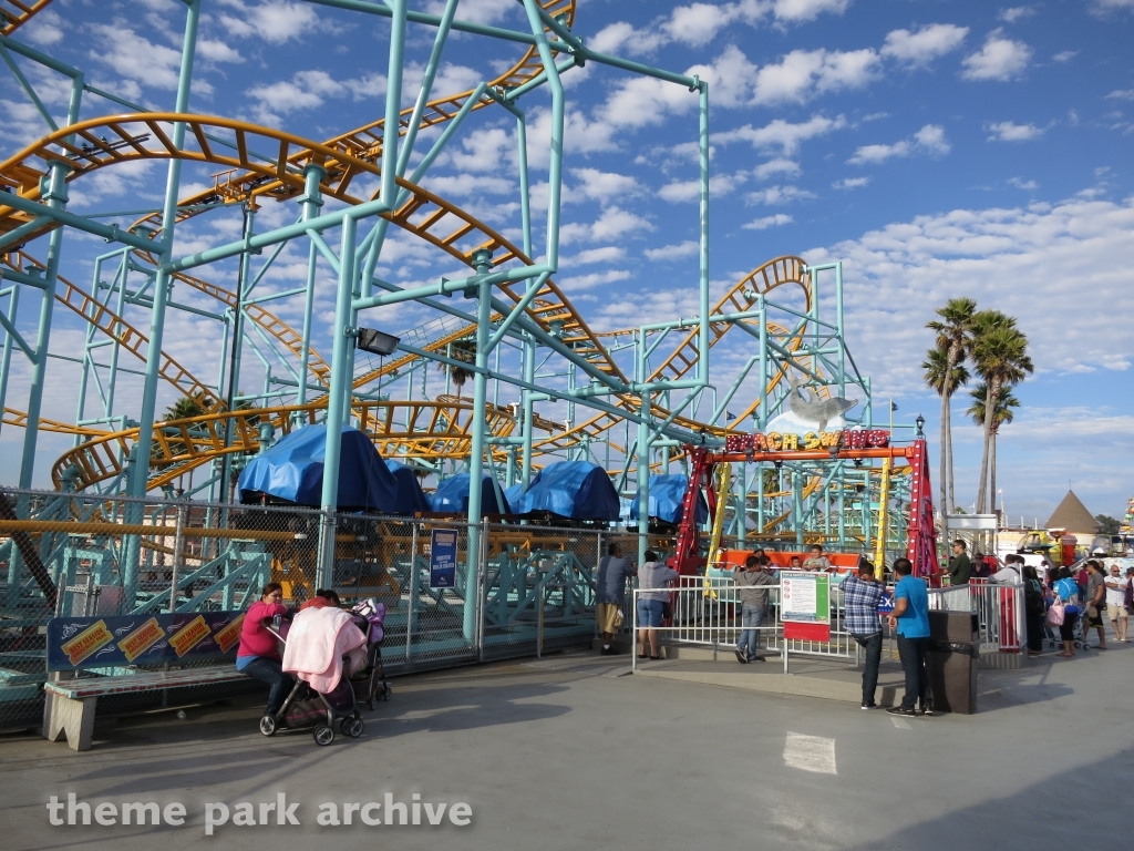
[(705, 565), (699, 547), (695, 506), (697, 492), (703, 489), (710, 514), (716, 516), (717, 511), (723, 509), (713, 488), (713, 472), (718, 464), (891, 458), (894, 463), (905, 461), (912, 471), (906, 557), (914, 565), (913, 575), (924, 576), (934, 588), (940, 585), (941, 567), (937, 557), (937, 526), (933, 524), (933, 497), (925, 439), (917, 438), (908, 446), (891, 446), (888, 431), (848, 429), (837, 433), (837, 443), (827, 448), (770, 448), (769, 440), (763, 435), (731, 435), (727, 439), (725, 452), (687, 445), (685, 450), (689, 457), (689, 488), (682, 504), (677, 551), (670, 557), (669, 565), (686, 575), (700, 573)]

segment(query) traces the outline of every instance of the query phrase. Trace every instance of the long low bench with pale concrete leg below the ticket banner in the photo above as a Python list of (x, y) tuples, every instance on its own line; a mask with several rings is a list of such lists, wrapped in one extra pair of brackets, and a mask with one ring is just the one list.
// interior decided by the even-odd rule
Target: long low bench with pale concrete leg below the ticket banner
[(213, 685), (247, 679), (247, 674), (242, 674), (235, 665), (215, 665), (179, 671), (139, 671), (136, 674), (90, 676), (44, 683), (43, 691), (46, 696), (44, 733), (51, 742), (58, 742), (66, 734), (67, 744), (71, 750), (90, 750), (94, 732), (94, 710), (99, 698)]

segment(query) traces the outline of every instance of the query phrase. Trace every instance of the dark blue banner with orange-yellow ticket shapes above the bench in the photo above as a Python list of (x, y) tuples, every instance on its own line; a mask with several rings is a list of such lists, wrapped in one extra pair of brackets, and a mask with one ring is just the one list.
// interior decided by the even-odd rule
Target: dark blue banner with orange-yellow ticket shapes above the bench
[(235, 659), (243, 625), (243, 612), (56, 617), (48, 622), (48, 671)]

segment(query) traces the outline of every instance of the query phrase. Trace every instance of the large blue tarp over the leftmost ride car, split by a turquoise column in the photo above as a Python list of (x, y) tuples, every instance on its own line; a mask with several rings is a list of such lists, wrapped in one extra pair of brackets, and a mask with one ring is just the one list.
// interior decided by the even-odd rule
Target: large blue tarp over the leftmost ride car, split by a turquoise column
[[(342, 427), (339, 456), (338, 507), (381, 514), (404, 514), (398, 506), (398, 482), (374, 444), (358, 429)], [(327, 426), (306, 426), (257, 455), (240, 472), (240, 502), (254, 503), (261, 494), (296, 505), (319, 507), (323, 491)], [(409, 509), (412, 513), (413, 509)]]

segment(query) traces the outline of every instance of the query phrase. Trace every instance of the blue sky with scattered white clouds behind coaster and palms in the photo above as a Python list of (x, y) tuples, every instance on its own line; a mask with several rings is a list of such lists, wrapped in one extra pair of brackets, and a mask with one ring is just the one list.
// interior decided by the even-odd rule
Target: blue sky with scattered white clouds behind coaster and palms
[[(434, 12), (443, 6), (409, 5)], [(925, 322), (962, 295), (1016, 317), (1035, 372), (1016, 388), (1022, 405), (999, 440), (1002, 507), (1014, 520), (1042, 523), (1072, 487), (1092, 513), (1123, 514), (1134, 495), (1134, 0), (579, 0), (577, 7), (574, 32), (592, 48), (709, 81), (714, 297), (775, 256), (841, 260), (847, 344), (872, 379), (875, 422), (886, 420), (892, 398), (899, 422), (925, 416), (933, 444), (939, 401), (919, 365), (932, 345)], [(202, 9), (193, 111), (313, 140), (382, 115), (384, 19), (290, 1), (204, 0)], [(458, 17), (524, 28), (511, 0), (463, 0)], [(176, 0), (57, 0), (19, 37), (82, 68), (95, 86), (168, 110), (183, 26)], [(432, 37), (431, 28), (411, 30), (407, 103)], [(434, 92), (491, 79), (519, 53), (516, 45), (454, 35)], [(61, 117), (66, 81), (24, 60), (20, 67)], [(564, 84), (557, 280), (599, 330), (692, 315), (696, 95), (595, 62), (565, 74)], [(538, 219), (547, 204), (548, 103), (543, 90), (521, 101)], [(83, 117), (118, 111), (87, 96)], [(3, 157), (44, 135), (10, 75), (0, 77), (0, 116)], [(422, 134), (415, 161), (437, 135)], [(422, 183), (516, 238), (515, 151), (514, 119), (480, 110)], [(211, 186), (217, 170), (187, 167), (183, 196)], [(68, 209), (154, 209), (164, 178), (164, 163), (104, 169), (76, 182)], [(257, 230), (294, 216), (294, 207), (266, 204)], [(239, 227), (234, 211), (195, 219), (178, 230), (175, 253), (235, 239)], [(42, 242), (28, 247), (45, 254)], [(90, 286), (93, 259), (105, 248), (68, 236), (64, 273)], [(264, 292), (302, 281), (305, 262), (306, 246), (289, 246)], [(398, 284), (457, 271), (434, 248), (398, 234), (379, 267)], [(209, 275), (232, 286), (235, 267)], [(829, 309), (830, 294), (821, 296)], [(191, 292), (175, 298), (215, 310)], [(273, 304), (297, 322), (301, 301)], [(333, 281), (325, 269), (316, 309), (329, 322)], [(20, 329), (34, 331), (36, 310), (35, 297), (25, 297)], [(128, 315), (147, 327), (145, 312), (135, 310)], [(380, 327), (399, 330), (435, 315), (414, 304), (375, 313)], [(77, 318), (61, 315), (52, 352), (81, 356), (84, 336)], [(218, 322), (171, 315), (166, 351), (209, 381), (217, 379), (220, 346)], [(321, 351), (329, 355), (329, 346)], [(714, 382), (726, 387), (750, 353), (737, 340), (714, 354)], [(261, 380), (257, 369), (246, 364), (242, 388)], [(74, 419), (77, 374), (73, 363), (52, 361), (45, 416)], [(434, 395), (435, 373), (429, 380)], [(6, 404), (22, 407), (26, 381), (17, 359)], [(136, 376), (122, 377), (124, 413), (137, 386)], [(954, 439), (957, 500), (967, 509), (980, 432), (966, 399), (962, 391), (954, 402)], [(6, 427), (0, 444), (14, 448), (19, 438)], [(37, 483), (46, 483), (52, 453), (66, 445), (44, 436)], [(11, 480), (15, 453), (5, 455), (0, 474)]]

